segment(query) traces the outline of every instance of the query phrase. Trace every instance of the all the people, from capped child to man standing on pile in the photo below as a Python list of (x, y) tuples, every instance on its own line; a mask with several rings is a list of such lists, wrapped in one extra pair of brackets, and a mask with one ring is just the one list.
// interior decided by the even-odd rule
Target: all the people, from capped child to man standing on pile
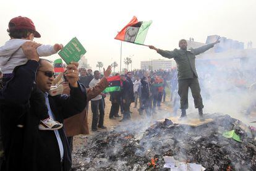
[(176, 61), (177, 68), (170, 70), (133, 70), (111, 75), (111, 66), (101, 73), (79, 69), (77, 62), (71, 62), (55, 77), (51, 61), (40, 57), (57, 53), (62, 44), (33, 42), (34, 37), (41, 35), (27, 17), (12, 19), (7, 31), (11, 40), (0, 47), (0, 128), (4, 150), (1, 170), (70, 170), (73, 136), (89, 133), (89, 102), (91, 130), (106, 129), (104, 90), (109, 86), (109, 77), (117, 77), (120, 84), (120, 89), (109, 93), (109, 119), (122, 117), (120, 122), (129, 121), (133, 102), (132, 107), (140, 115), (145, 111), (152, 118), (162, 110), (166, 96), (173, 104), (173, 114), (177, 115), (180, 108), (180, 119), (186, 119), (190, 88), (199, 119), (204, 120), (195, 56), (213, 48), (219, 39), (190, 50), (186, 40), (180, 40), (180, 49), (174, 51), (149, 46)]

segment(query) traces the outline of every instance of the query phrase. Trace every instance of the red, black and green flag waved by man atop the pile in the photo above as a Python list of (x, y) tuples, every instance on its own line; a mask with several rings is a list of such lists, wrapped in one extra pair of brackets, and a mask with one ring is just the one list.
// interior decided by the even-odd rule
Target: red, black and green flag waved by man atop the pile
[(118, 32), (115, 39), (135, 44), (143, 44), (151, 23), (151, 20), (148, 22), (138, 22), (137, 17), (134, 16), (126, 27)]

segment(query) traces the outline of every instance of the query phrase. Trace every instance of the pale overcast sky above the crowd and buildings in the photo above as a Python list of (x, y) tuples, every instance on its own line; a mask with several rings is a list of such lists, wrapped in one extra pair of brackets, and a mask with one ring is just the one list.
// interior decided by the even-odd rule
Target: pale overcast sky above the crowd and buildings
[[(93, 69), (96, 62), (120, 63), (120, 41), (114, 40), (135, 15), (139, 21), (153, 20), (145, 44), (161, 49), (177, 48), (181, 38), (193, 37), (205, 43), (207, 35), (256, 43), (256, 1), (254, 0), (188, 0), (188, 1), (1, 1), (0, 44), (8, 39), (9, 20), (19, 15), (33, 20), (43, 44), (66, 44), (76, 36), (87, 53)], [(163, 59), (146, 46), (122, 43), (122, 57), (133, 57), (133, 68), (141, 60)], [(48, 59), (57, 59), (58, 54)], [(124, 62), (122, 59), (122, 66)], [(119, 66), (117, 67), (119, 69)]]

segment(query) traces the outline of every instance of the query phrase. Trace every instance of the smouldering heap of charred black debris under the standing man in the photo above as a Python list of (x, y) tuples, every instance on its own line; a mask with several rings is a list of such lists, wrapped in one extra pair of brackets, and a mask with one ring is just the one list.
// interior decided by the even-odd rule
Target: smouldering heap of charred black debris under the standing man
[[(202, 164), (207, 170), (256, 170), (256, 143), (247, 126), (229, 115), (208, 117), (215, 121), (199, 127), (156, 122), (140, 138), (139, 127), (98, 133), (75, 152), (75, 170), (164, 170), (163, 156)], [(242, 142), (222, 135), (229, 130)]]

